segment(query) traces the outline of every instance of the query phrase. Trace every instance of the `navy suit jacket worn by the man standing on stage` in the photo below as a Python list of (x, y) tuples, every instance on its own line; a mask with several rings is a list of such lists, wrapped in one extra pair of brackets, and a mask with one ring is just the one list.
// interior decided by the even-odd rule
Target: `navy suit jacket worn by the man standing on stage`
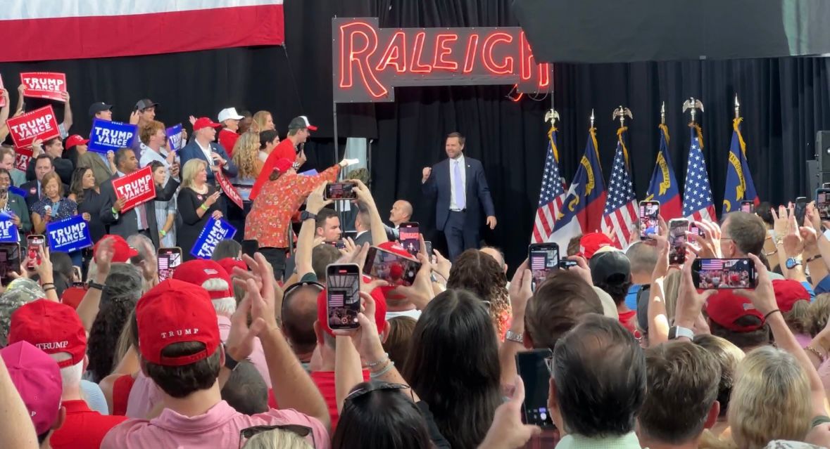
[[(484, 167), (477, 159), (464, 156), (466, 165), (466, 223), (465, 226), (476, 228), (484, 224), (484, 218), (496, 216), (493, 199), (490, 196), (490, 187), (484, 176)], [(435, 202), (435, 225), (437, 229), (444, 229), (450, 215), (450, 198), (452, 185), (450, 184), (450, 160), (444, 159), (432, 166), (432, 174), (427, 182), (421, 185), (424, 195), (437, 196)], [(482, 209), (484, 215), (481, 215)]]

